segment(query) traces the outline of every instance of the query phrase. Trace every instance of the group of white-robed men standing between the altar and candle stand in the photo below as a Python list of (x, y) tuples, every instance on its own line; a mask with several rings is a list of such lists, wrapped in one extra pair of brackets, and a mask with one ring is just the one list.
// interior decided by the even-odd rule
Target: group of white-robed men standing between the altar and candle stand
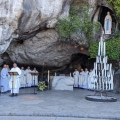
[(88, 68), (85, 68), (85, 70), (81, 69), (80, 72), (77, 69), (75, 69), (73, 73), (73, 77), (74, 77), (74, 87), (93, 89), (94, 72), (92, 69), (88, 71)]

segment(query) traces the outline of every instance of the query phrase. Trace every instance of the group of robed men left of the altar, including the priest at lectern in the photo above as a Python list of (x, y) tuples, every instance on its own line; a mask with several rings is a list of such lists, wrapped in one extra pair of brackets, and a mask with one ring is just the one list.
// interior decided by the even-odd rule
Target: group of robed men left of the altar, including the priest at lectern
[[(17, 72), (18, 75), (10, 75), (10, 72)], [(25, 70), (24, 67), (17, 67), (17, 64), (13, 64), (13, 68), (10, 69), (9, 65), (4, 64), (0, 72), (0, 89), (1, 92), (7, 92), (11, 90), (12, 95), (18, 95), (19, 88), (38, 86), (38, 76), (32, 76), (31, 73), (38, 73), (36, 67), (33, 70), (30, 66)]]

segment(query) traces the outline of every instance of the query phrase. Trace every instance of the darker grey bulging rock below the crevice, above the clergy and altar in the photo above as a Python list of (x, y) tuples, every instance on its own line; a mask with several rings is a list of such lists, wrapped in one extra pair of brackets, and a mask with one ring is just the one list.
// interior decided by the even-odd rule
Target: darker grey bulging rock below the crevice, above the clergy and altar
[[(12, 61), (41, 65), (44, 60), (45, 65), (50, 67), (68, 64), (72, 54), (79, 52), (80, 50), (72, 45), (59, 45), (58, 34), (52, 29), (38, 33), (35, 37), (24, 41), (23, 44), (13, 42), (7, 50)], [(81, 53), (88, 54), (85, 51)]]

